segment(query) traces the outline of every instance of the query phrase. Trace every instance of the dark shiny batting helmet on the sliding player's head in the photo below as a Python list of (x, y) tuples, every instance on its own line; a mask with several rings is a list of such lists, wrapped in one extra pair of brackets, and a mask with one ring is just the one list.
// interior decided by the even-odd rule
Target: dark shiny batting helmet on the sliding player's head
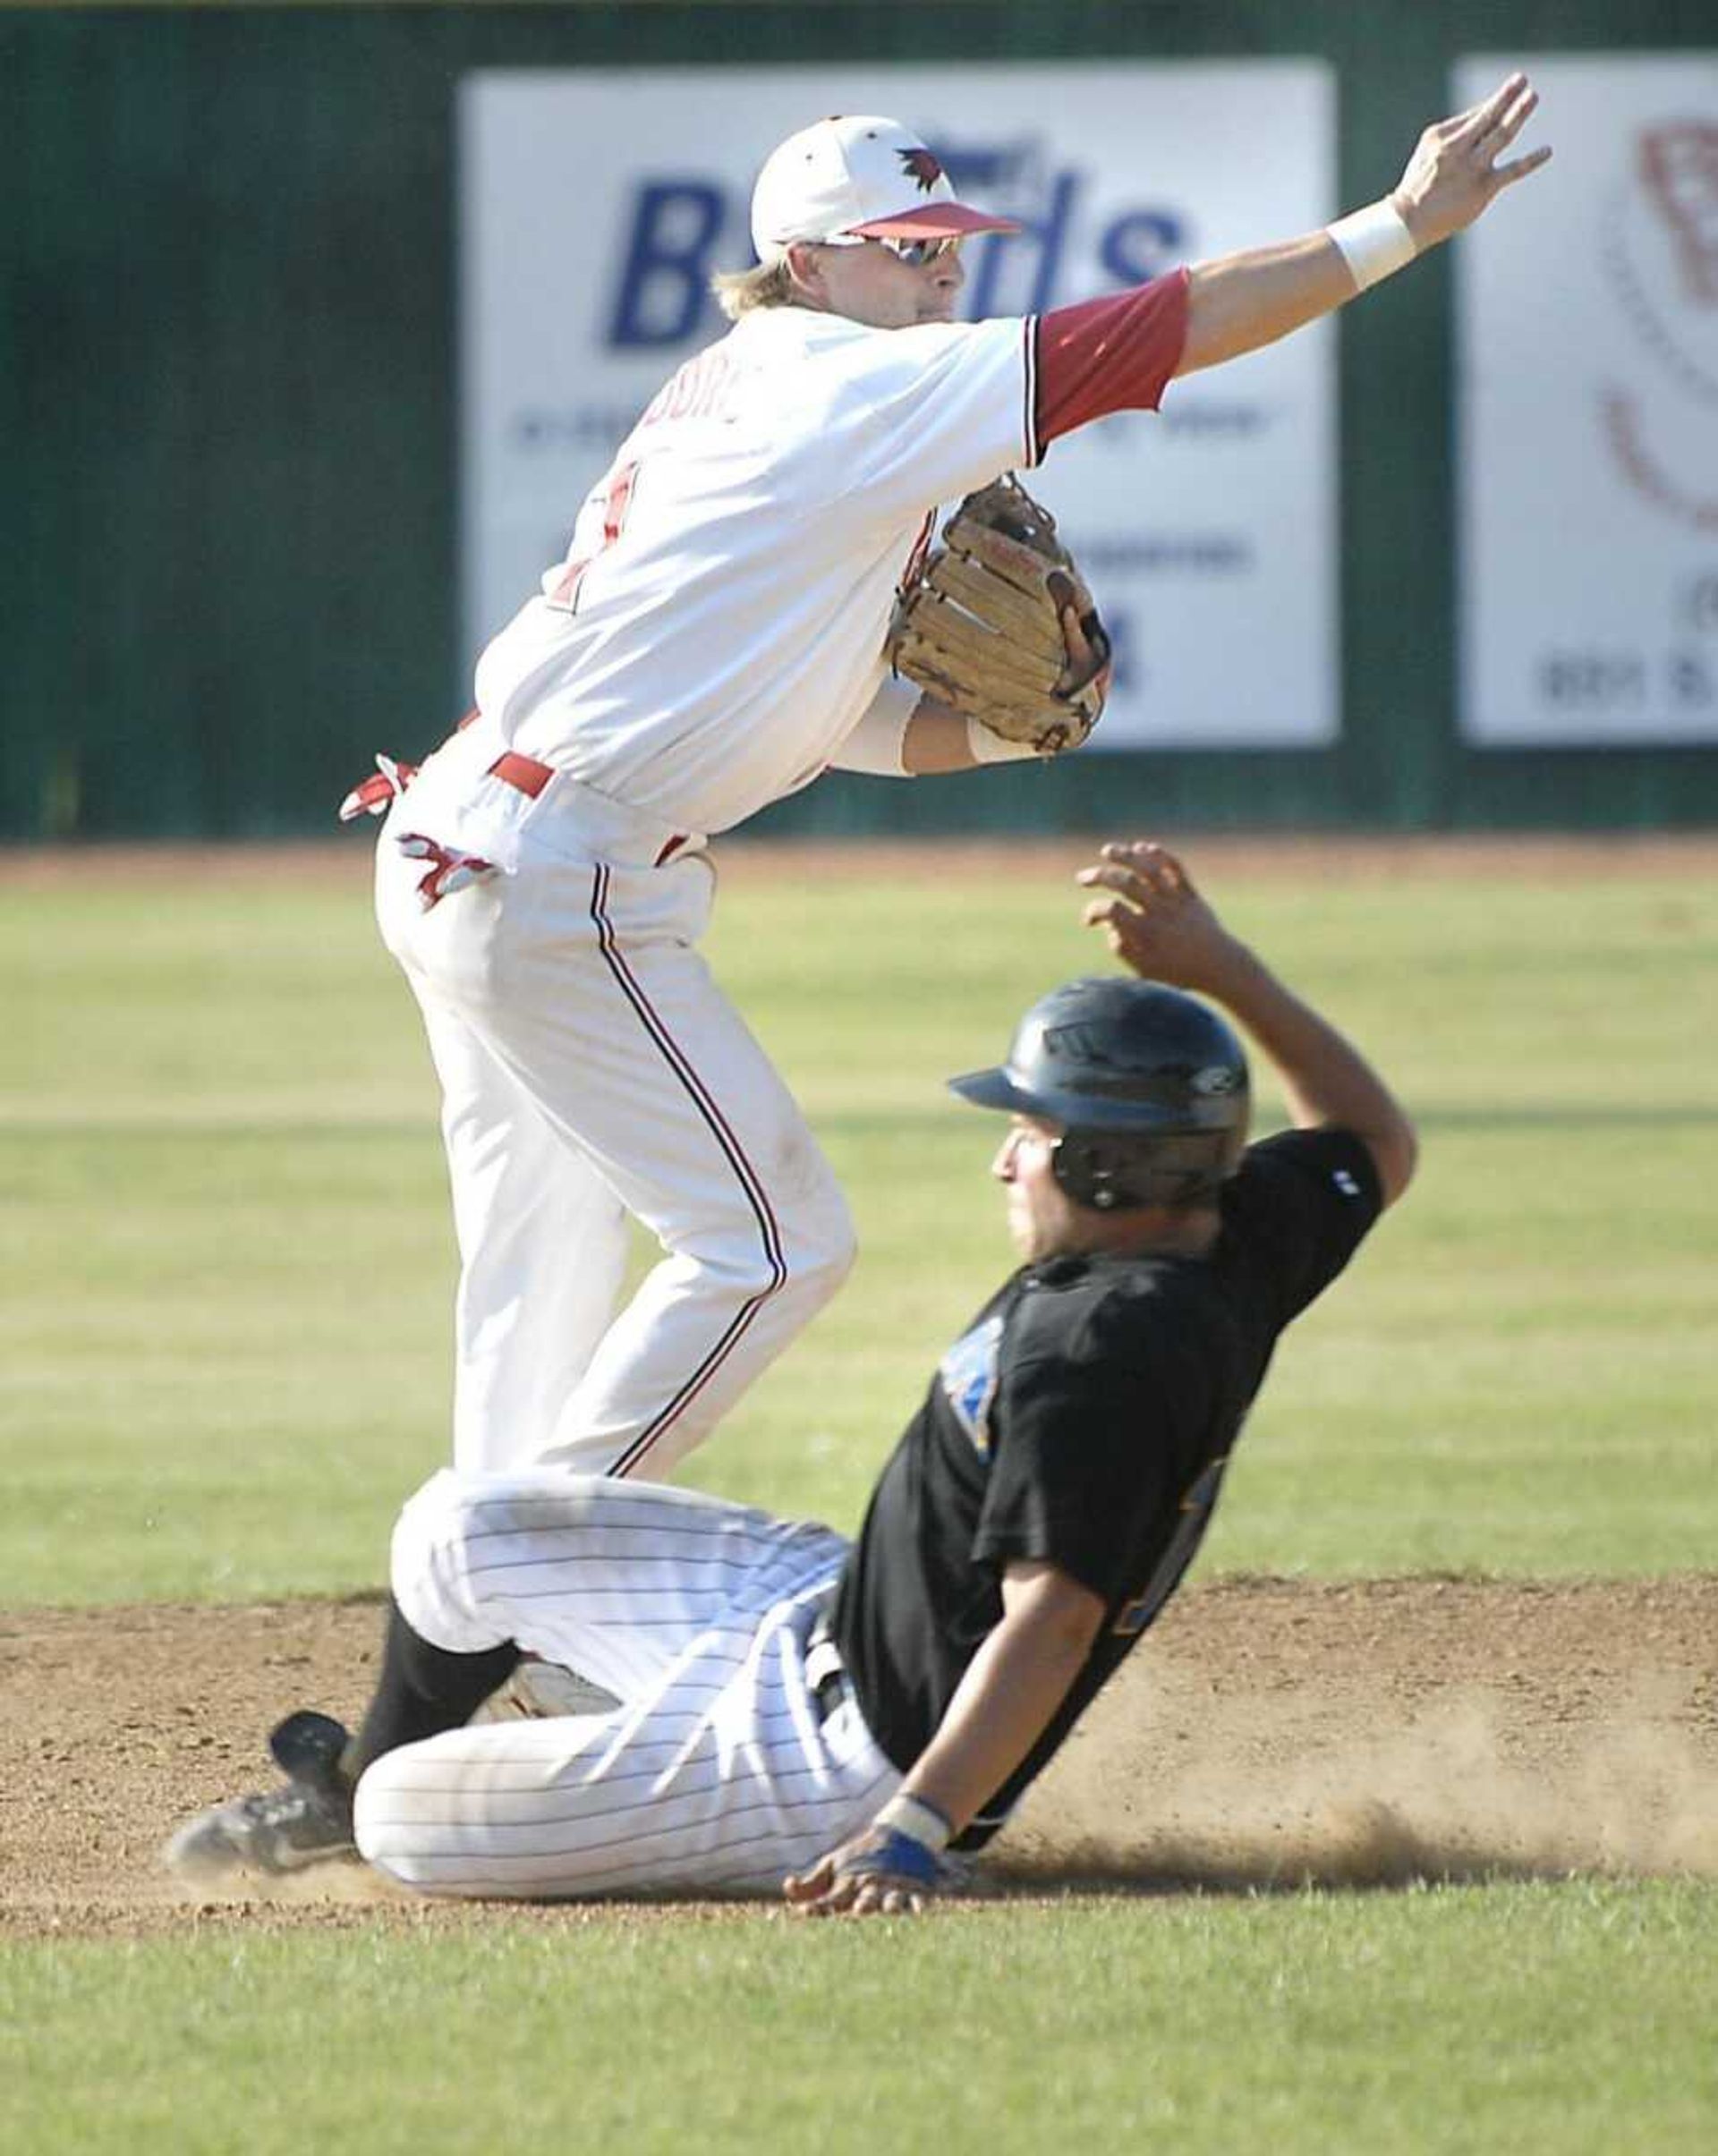
[(1162, 981), (1065, 981), (1020, 1020), (1007, 1063), (948, 1084), (1054, 1123), (1056, 1181), (1099, 1212), (1207, 1203), (1246, 1145), (1246, 1050)]

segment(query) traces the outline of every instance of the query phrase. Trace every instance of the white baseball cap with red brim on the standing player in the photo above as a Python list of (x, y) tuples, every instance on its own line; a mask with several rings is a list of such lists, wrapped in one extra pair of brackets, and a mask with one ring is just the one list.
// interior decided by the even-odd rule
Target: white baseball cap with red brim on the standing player
[(936, 151), (899, 121), (836, 114), (770, 151), (752, 188), (752, 246), (776, 263), (795, 239), (959, 239), (1017, 233), (970, 209)]

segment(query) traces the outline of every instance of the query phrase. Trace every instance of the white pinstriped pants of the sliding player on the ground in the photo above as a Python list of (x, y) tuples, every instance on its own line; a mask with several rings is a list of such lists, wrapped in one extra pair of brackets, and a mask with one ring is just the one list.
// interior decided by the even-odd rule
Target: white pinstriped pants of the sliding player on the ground
[(407, 1623), (453, 1654), (513, 1639), (619, 1705), (386, 1753), (358, 1785), (360, 1852), (425, 1893), (776, 1893), (901, 1783), (856, 1705), (821, 1716), (806, 1686), (845, 1554), (692, 1490), (433, 1477), (394, 1531)]

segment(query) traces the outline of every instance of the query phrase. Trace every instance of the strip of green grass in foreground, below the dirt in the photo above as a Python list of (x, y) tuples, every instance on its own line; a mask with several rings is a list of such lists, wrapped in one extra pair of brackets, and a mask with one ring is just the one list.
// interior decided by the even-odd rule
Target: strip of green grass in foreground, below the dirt
[(1664, 1884), (67, 1943), (0, 1962), (0, 2141), (1694, 2156), (1709, 1949)]

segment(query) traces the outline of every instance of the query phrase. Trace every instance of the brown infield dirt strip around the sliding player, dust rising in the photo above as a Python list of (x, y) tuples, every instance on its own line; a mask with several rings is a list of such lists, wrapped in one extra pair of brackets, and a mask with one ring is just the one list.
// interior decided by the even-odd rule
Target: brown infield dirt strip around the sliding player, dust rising
[[(183, 1813), (272, 1779), (278, 1714), (362, 1708), (379, 1621), (375, 1600), (0, 1615), (0, 1934), (453, 1917), (356, 1867), (216, 1904), (157, 1865)], [(1028, 1893), (1718, 1878), (1714, 1643), (1718, 1576), (1194, 1587), (985, 1869)]]

